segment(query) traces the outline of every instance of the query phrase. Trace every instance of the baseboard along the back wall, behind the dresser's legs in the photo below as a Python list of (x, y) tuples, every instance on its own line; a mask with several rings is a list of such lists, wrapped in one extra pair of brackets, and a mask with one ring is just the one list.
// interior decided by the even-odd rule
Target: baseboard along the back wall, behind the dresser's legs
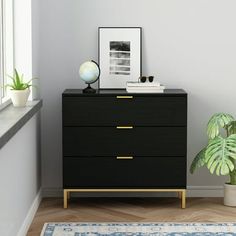
[[(175, 193), (74, 193), (78, 197), (171, 197)], [(43, 188), (43, 197), (63, 197), (60, 188)], [(188, 186), (187, 197), (223, 197), (223, 186)]]

